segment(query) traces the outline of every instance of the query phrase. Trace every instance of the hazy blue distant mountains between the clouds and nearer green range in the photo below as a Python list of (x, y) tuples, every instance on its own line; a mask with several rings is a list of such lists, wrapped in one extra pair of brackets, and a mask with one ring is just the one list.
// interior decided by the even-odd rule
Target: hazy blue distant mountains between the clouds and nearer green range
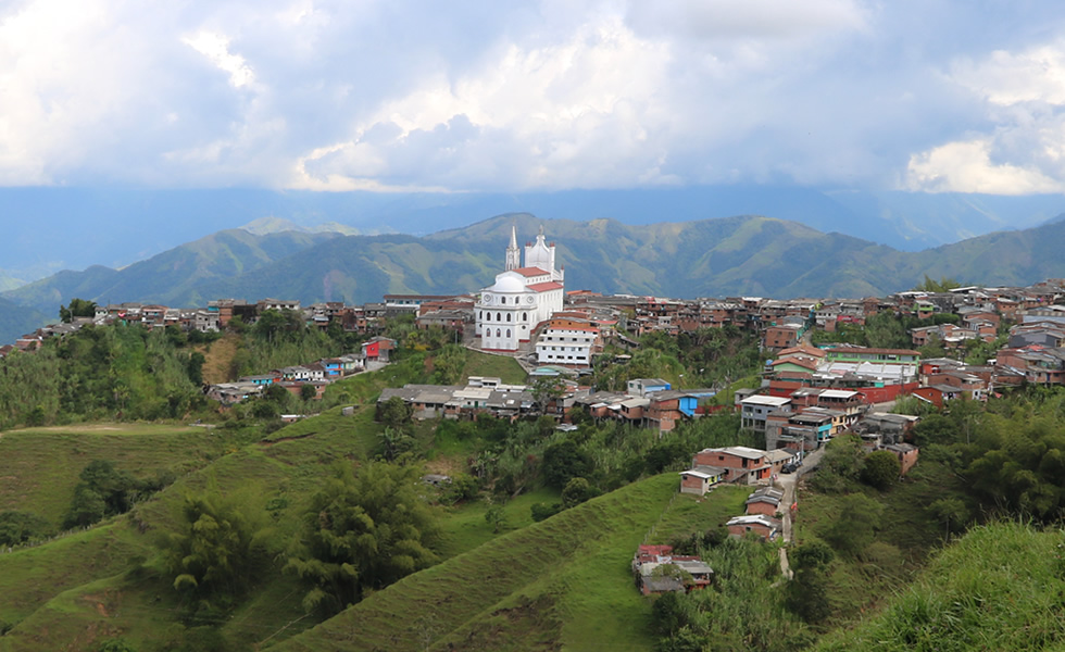
[[(527, 212), (628, 225), (769, 215), (903, 251), (1038, 226), (1065, 197), (818, 189), (779, 185), (556, 192), (310, 192), (263, 189), (0, 188), (0, 291), (61, 269), (121, 268), (226, 228), (426, 235)], [(250, 223), (250, 224), (249, 224)]]

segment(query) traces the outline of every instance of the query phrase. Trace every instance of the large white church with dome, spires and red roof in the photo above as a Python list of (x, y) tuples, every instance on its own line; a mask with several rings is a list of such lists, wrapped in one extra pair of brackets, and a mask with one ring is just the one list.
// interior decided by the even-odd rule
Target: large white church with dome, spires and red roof
[(543, 226), (536, 242), (525, 246), (525, 264), (517, 248), (517, 230), (511, 227), (505, 271), (496, 284), (480, 291), (476, 311), (481, 349), (516, 351), (529, 341), (532, 330), (562, 311), (564, 269), (555, 269), (554, 243), (543, 241)]

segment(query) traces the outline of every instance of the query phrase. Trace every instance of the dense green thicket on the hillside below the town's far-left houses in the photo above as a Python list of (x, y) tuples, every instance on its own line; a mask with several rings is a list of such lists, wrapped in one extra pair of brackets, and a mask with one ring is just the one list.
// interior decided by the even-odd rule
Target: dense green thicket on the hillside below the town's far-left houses
[[(309, 328), (296, 313), (277, 311), (250, 328), (237, 322), (234, 330), (239, 339), (227, 363), (229, 380), (351, 352), (362, 339), (336, 326)], [(0, 428), (206, 417), (203, 366), (217, 338), (176, 326), (114, 324), (48, 339), (34, 352), (14, 351), (0, 360)], [(291, 403), (287, 393), (274, 397), (279, 409)]]

